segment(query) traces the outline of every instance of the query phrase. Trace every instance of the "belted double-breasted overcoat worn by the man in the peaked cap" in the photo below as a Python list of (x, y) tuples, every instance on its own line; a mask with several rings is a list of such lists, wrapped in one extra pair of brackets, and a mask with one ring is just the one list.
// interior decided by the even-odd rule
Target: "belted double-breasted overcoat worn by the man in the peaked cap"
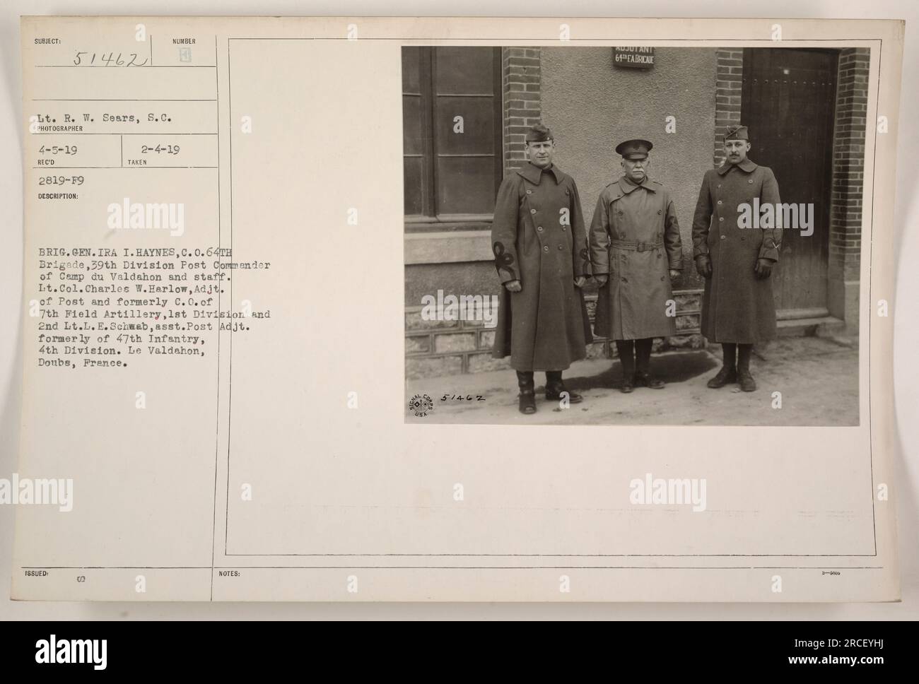
[(594, 275), (609, 276), (596, 300), (596, 334), (613, 340), (675, 335), (669, 270), (683, 268), (683, 243), (664, 186), (650, 179), (635, 185), (625, 176), (607, 185), (589, 239)]

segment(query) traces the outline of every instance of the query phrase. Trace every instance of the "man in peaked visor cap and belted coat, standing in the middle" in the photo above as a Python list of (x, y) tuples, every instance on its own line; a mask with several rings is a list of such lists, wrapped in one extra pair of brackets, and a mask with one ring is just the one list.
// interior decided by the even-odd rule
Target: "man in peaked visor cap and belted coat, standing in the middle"
[(616, 342), (625, 393), (636, 386), (664, 387), (651, 374), (652, 343), (676, 334), (668, 302), (670, 279), (683, 268), (683, 244), (670, 194), (648, 177), (651, 149), (641, 139), (616, 146), (625, 174), (600, 193), (590, 225), (591, 264), (600, 286), (594, 330)]

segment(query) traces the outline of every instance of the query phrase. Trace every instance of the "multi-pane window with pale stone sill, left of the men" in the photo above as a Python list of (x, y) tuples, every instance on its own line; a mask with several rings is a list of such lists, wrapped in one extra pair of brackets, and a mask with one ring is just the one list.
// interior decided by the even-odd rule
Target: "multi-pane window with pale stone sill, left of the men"
[(501, 49), (402, 57), (406, 228), (487, 228), (502, 176)]

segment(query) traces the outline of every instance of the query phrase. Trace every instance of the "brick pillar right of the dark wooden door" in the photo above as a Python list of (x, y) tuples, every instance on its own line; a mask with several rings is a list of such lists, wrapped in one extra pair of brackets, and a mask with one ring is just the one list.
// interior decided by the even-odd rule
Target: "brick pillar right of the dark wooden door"
[(830, 207), (830, 314), (858, 331), (862, 183), (868, 126), (868, 48), (839, 52)]

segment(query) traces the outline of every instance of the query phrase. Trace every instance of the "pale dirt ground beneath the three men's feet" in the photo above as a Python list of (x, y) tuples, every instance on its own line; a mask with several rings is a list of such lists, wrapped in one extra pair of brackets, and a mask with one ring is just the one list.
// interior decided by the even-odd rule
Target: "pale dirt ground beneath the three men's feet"
[[(720, 367), (720, 346), (652, 355), (652, 373), (663, 389), (636, 387), (622, 394), (618, 361), (592, 359), (564, 373), (567, 387), (584, 401), (562, 409), (542, 394), (536, 374), (537, 412), (517, 410), (512, 370), (430, 377), (406, 382), (405, 420), (418, 423), (594, 424), (594, 425), (804, 425), (858, 424), (858, 350), (848, 339), (781, 338), (754, 353), (756, 391), (736, 385), (709, 389)], [(773, 408), (781, 392), (781, 408)], [(427, 395), (434, 409), (416, 417), (409, 398)], [(446, 399), (445, 399), (446, 396)], [(454, 398), (454, 396), (462, 397)], [(471, 397), (471, 400), (467, 400)], [(479, 399), (481, 397), (481, 399)]]

